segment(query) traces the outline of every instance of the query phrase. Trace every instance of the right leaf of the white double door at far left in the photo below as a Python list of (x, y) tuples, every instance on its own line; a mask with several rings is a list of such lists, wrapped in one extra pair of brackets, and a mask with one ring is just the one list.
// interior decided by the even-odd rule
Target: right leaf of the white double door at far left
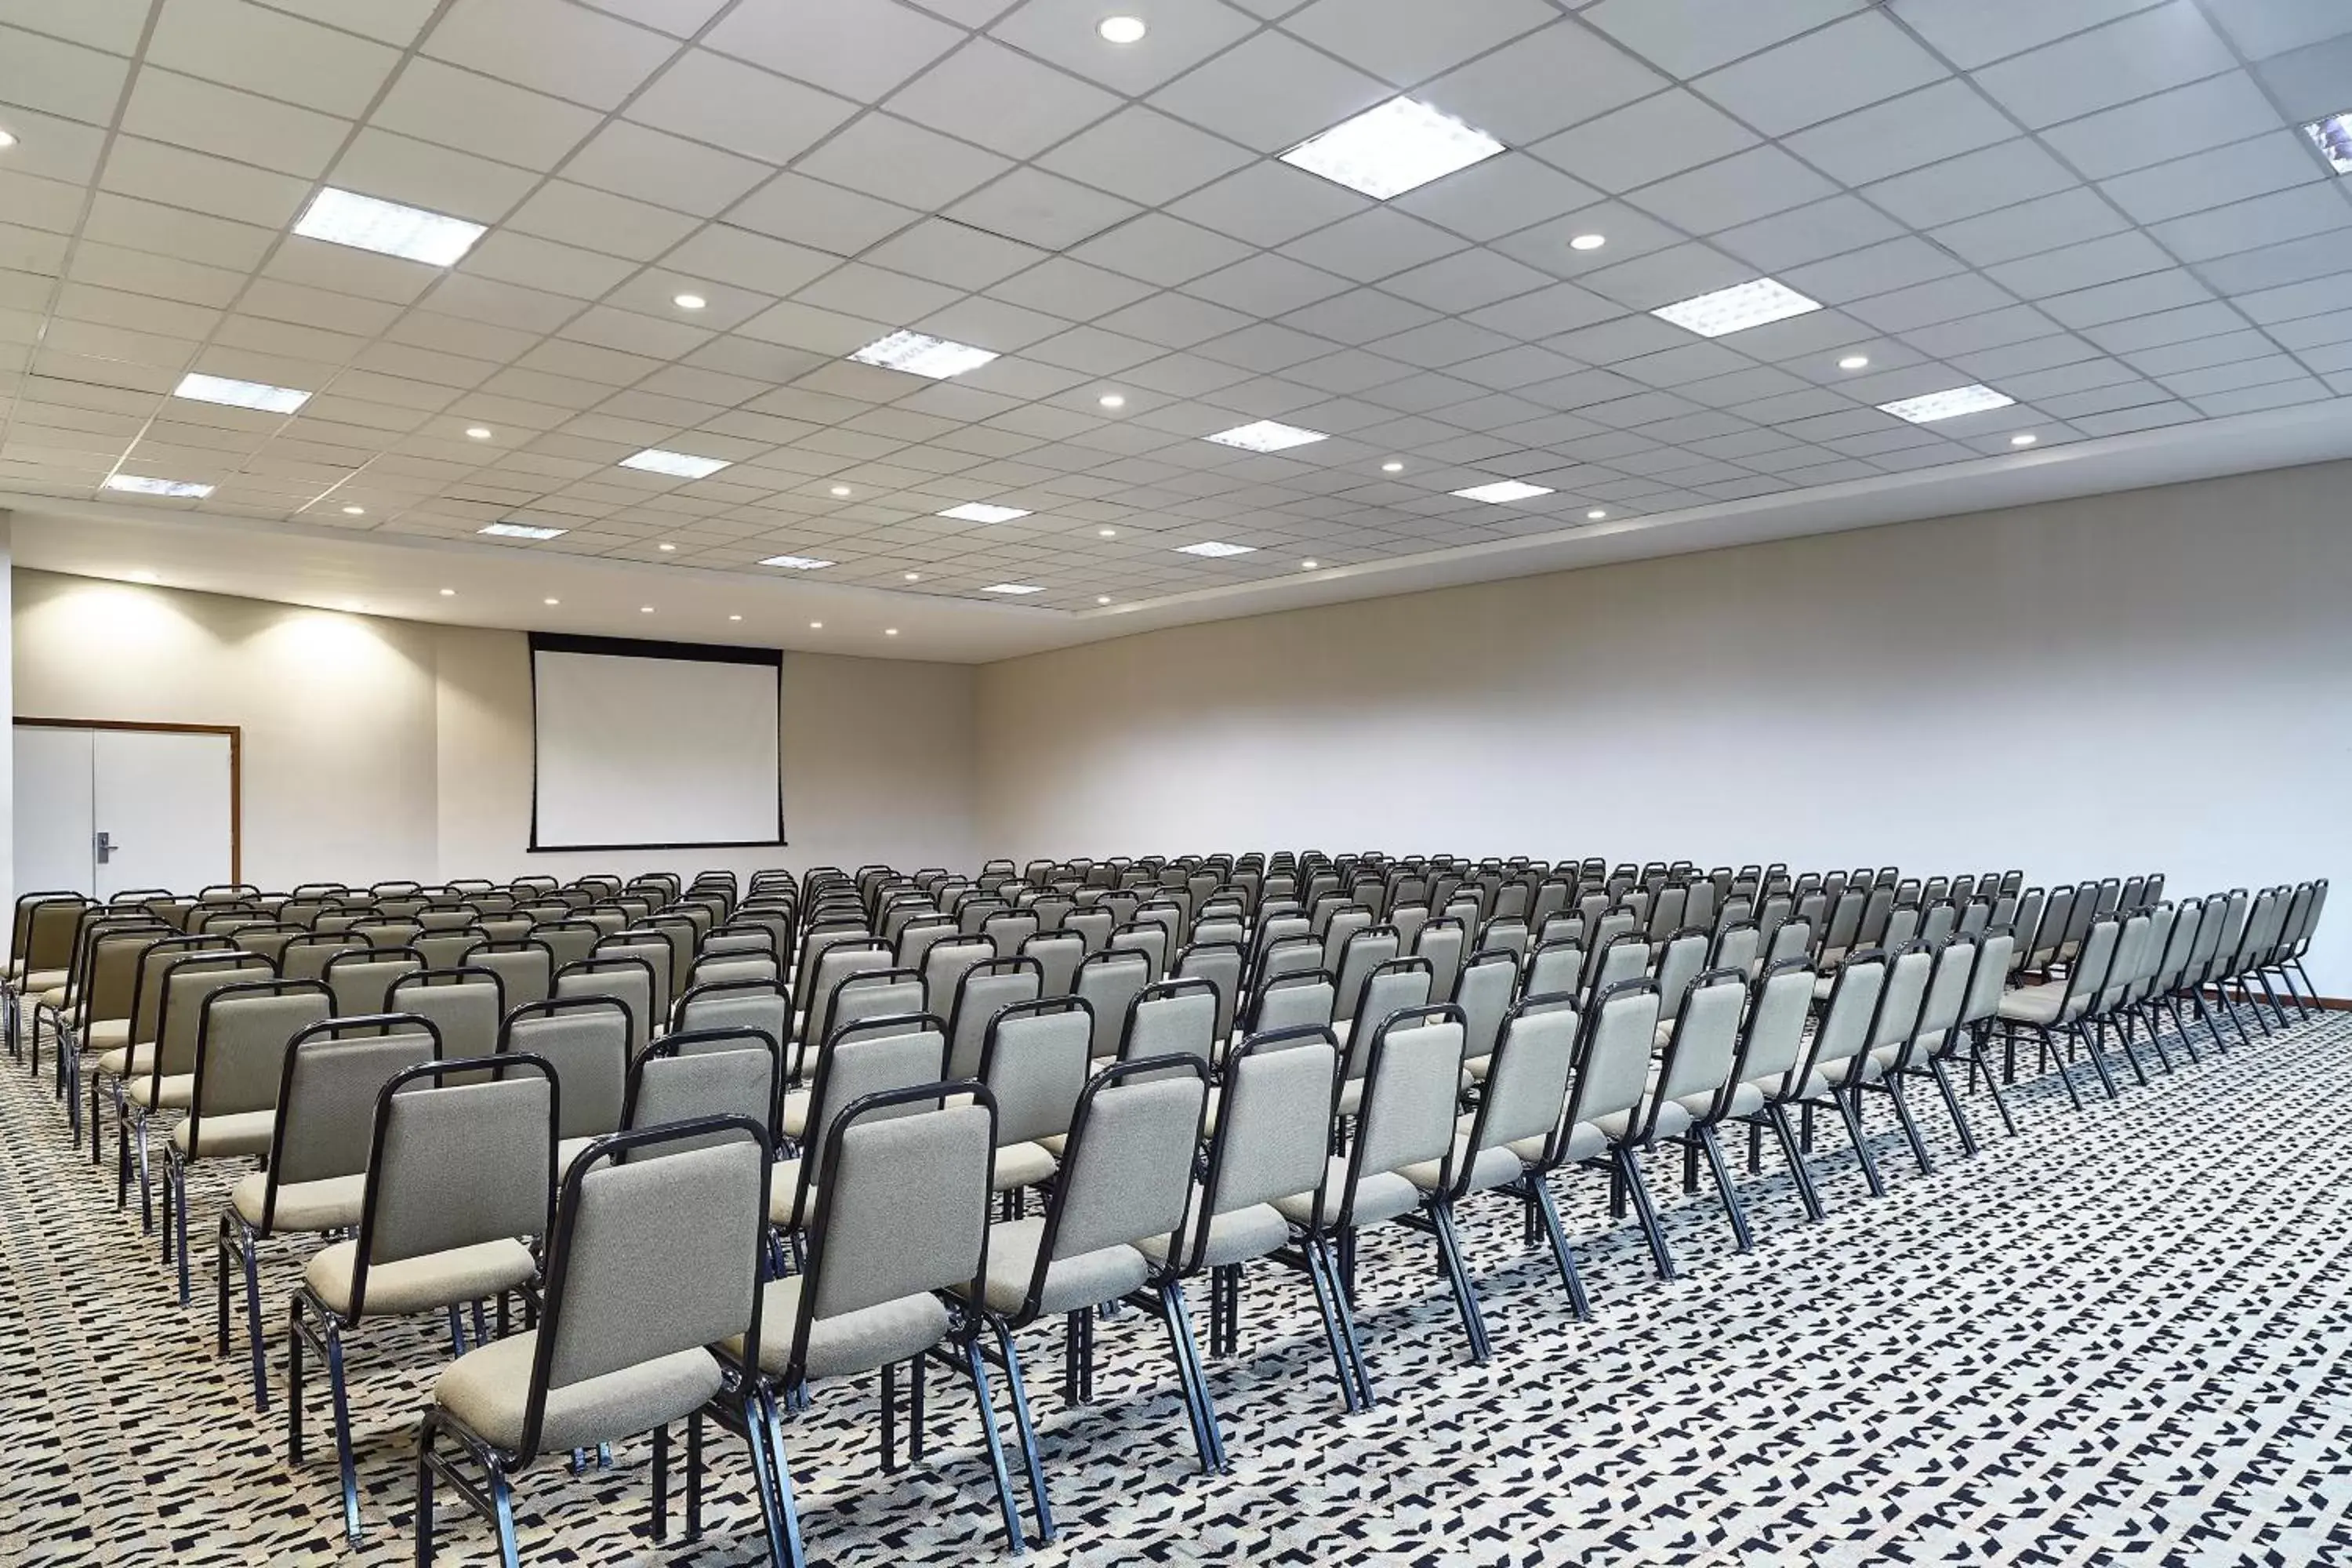
[(228, 736), (101, 729), (92, 743), (99, 898), (228, 882)]

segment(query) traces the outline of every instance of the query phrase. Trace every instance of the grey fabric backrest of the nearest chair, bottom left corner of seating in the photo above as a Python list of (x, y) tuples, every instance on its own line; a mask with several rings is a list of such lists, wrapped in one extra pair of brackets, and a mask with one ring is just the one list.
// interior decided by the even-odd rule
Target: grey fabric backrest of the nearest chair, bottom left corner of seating
[[(715, 1133), (731, 1135), (715, 1147), (647, 1159)], [(546, 1434), (553, 1389), (727, 1340), (741, 1340), (746, 1363), (757, 1363), (767, 1178), (769, 1145), (750, 1121), (619, 1133), (564, 1171), (524, 1394), (522, 1462), (536, 1458), (546, 1436), (553, 1448), (593, 1448), (687, 1413), (673, 1408), (675, 1396), (616, 1392), (583, 1401), (600, 1420), (572, 1420)]]

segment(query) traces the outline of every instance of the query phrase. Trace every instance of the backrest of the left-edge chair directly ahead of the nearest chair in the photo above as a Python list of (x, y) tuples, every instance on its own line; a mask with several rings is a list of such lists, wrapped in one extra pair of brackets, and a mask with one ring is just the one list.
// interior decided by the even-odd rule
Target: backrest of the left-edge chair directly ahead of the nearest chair
[(419, 1063), (383, 1084), (346, 1321), (367, 1314), (376, 1265), (548, 1234), (555, 1095), (555, 1070), (532, 1056)]

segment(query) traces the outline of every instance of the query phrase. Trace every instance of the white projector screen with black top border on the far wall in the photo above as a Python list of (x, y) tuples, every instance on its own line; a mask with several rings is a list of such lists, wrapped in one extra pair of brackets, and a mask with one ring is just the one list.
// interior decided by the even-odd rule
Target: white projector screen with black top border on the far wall
[(783, 844), (783, 656), (532, 632), (532, 849)]

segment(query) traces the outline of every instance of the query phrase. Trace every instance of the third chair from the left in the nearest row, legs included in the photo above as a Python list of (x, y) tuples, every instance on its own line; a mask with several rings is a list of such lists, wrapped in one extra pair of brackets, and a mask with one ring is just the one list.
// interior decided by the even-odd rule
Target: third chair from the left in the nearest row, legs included
[(1105, 1067), (1077, 1098), (1063, 1173), (1044, 1213), (990, 1227), (981, 1298), (967, 1298), (967, 1307), (983, 1312), (995, 1340), (1040, 1542), (1054, 1542), (1058, 1530), (1014, 1345), (1023, 1328), (1040, 1321), (1063, 1319), (1063, 1392), (1070, 1403), (1091, 1403), (1096, 1307), (1124, 1300), (1157, 1314), (1202, 1472), (1218, 1469), (1216, 1415), (1202, 1403), (1207, 1389), (1183, 1286), (1174, 1269), (1155, 1265), (1141, 1248), (1183, 1222), (1207, 1095), (1209, 1067), (1190, 1056), (1145, 1056)]

